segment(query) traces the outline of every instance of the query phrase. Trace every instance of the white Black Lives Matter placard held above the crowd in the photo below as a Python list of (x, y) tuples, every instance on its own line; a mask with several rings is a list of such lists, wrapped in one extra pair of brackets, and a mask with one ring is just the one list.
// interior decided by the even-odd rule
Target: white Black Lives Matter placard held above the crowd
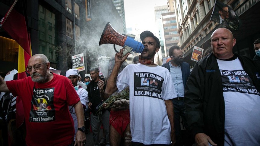
[(85, 70), (85, 65), (84, 65), (84, 54), (78, 54), (71, 56), (71, 64), (72, 68), (78, 69), (78, 71), (83, 71)]

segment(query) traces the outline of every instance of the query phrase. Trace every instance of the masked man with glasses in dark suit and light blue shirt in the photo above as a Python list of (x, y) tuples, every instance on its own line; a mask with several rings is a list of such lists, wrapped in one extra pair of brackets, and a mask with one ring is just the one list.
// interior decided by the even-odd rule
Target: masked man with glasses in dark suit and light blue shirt
[(187, 62), (182, 61), (184, 54), (182, 53), (182, 49), (180, 49), (179, 46), (174, 45), (170, 47), (169, 56), (171, 57), (171, 60), (168, 63), (163, 64), (162, 67), (165, 67), (170, 71), (175, 91), (178, 95), (177, 98), (172, 99), (172, 102), (174, 107), (174, 127), (176, 133), (175, 146), (180, 146), (183, 145), (183, 142), (185, 141), (182, 140), (181, 136), (180, 117), (182, 117), (183, 124), (187, 129), (187, 120), (184, 115), (185, 107), (183, 103), (183, 97), (184, 87), (190, 75), (190, 68)]

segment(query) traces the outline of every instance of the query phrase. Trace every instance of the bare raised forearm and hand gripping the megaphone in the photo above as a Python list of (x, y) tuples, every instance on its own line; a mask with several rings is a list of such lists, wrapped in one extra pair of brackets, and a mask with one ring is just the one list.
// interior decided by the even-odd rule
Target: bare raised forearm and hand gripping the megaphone
[(116, 92), (116, 90), (117, 90), (116, 80), (117, 80), (117, 75), (118, 75), (119, 69), (120, 69), (122, 63), (127, 58), (127, 56), (129, 54), (131, 54), (131, 53), (127, 53), (125, 56), (123, 56), (123, 51), (124, 51), (124, 48), (122, 48), (120, 50), (120, 52), (116, 53), (116, 55), (115, 55), (115, 66), (110, 74), (110, 77), (107, 79), (107, 82), (106, 82), (105, 93), (107, 95), (111, 95), (114, 92)]

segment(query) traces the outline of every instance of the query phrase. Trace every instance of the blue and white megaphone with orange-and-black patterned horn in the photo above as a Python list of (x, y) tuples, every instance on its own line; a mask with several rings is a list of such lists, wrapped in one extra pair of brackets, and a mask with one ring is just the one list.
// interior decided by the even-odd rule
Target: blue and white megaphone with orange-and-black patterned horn
[[(141, 53), (144, 50), (144, 45), (141, 42), (136, 41), (130, 36), (124, 36), (118, 33), (110, 25), (110, 22), (106, 23), (103, 33), (100, 37), (99, 45), (102, 44), (114, 44), (114, 50), (116, 51), (115, 45), (119, 45), (125, 48), (123, 56), (133, 51), (135, 53)], [(118, 52), (118, 51), (116, 51)]]

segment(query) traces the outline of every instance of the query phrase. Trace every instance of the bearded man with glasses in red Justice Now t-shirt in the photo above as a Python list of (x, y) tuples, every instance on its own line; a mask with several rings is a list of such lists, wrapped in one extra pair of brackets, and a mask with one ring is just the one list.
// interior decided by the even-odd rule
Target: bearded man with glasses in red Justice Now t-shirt
[[(44, 145), (72, 146), (74, 124), (68, 106), (74, 106), (78, 118), (78, 127), (84, 126), (83, 107), (71, 81), (65, 76), (49, 71), (50, 63), (44, 54), (35, 54), (26, 70), (30, 73), (24, 79), (4, 81), (0, 76), (0, 91), (11, 92), (23, 102), (26, 145), (39, 145), (39, 131)], [(46, 110), (39, 110), (41, 99), (46, 103)], [(75, 143), (83, 146), (85, 132), (78, 131)]]

